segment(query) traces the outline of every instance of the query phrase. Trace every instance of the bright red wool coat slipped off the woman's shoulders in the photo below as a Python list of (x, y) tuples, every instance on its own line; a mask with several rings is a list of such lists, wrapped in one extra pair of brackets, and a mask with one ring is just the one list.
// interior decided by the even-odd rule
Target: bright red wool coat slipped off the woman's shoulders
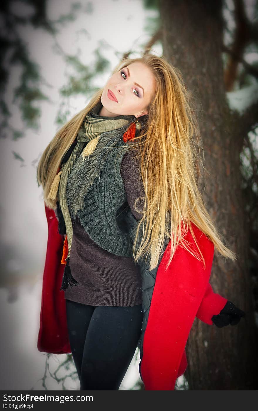
[[(64, 264), (61, 264), (63, 237), (58, 233), (54, 210), (46, 207), (48, 243), (43, 272), (40, 325), (37, 348), (41, 352), (71, 353), (66, 323), (64, 291), (60, 291)], [(220, 313), (227, 299), (212, 291), (209, 284), (214, 245), (193, 225), (204, 256), (198, 261), (182, 247), (177, 247), (169, 269), (167, 245), (158, 266), (143, 340), (140, 371), (145, 390), (174, 390), (176, 379), (185, 372), (185, 345), (195, 317), (212, 325), (211, 317)], [(196, 249), (187, 233), (187, 241)]]

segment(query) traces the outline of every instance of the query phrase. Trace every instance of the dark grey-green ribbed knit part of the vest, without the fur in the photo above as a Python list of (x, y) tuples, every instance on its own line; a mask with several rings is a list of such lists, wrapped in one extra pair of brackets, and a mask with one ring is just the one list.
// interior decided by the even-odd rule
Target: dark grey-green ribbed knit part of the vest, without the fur
[[(117, 145), (124, 145), (117, 141)], [(84, 208), (78, 211), (81, 224), (96, 244), (112, 254), (132, 256), (132, 239), (119, 227), (121, 210), (126, 201), (123, 180), (120, 175), (124, 152), (113, 150), (103, 164), (100, 179), (96, 178), (84, 198)], [(130, 171), (128, 171), (130, 172)], [(116, 221), (116, 215), (119, 215)], [(125, 222), (121, 222), (125, 224)]]

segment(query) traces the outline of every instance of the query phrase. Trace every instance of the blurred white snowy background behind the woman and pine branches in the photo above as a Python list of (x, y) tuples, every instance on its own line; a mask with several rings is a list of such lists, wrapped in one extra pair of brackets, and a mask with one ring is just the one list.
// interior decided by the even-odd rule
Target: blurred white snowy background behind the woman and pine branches
[[(58, 19), (61, 13), (69, 12), (72, 4), (71, 0), (48, 1), (47, 14), (52, 20)], [(70, 111), (71, 118), (87, 105), (89, 98), (83, 95), (68, 99), (60, 97), (60, 89), (67, 83), (69, 67), (62, 53), (57, 50), (61, 47), (66, 53), (73, 55), (80, 49), (81, 61), (90, 64), (94, 61), (94, 50), (102, 41), (107, 44), (103, 54), (113, 68), (119, 61), (118, 56), (126, 51), (132, 49), (135, 51), (132, 57), (137, 56), (150, 37), (145, 30), (146, 18), (155, 19), (157, 16), (155, 10), (144, 9), (141, 0), (95, 0), (91, 14), (87, 12), (91, 3), (81, 4), (83, 9), (77, 13), (76, 19), (64, 23), (55, 39), (45, 30), (35, 29), (31, 25), (19, 28), (30, 56), (41, 67), (45, 79), (41, 90), (51, 101), (39, 103), (41, 115), (38, 130), (25, 129), (25, 138), (16, 141), (11, 138), (1, 140), (1, 390), (64, 389), (62, 381), (58, 383), (49, 376), (49, 372), (54, 372), (66, 355), (52, 355), (48, 358), (47, 354), (37, 350), (48, 227), (41, 187), (38, 188), (36, 182), (36, 166), (46, 145), (60, 128), (56, 122), (60, 106), (63, 111)], [(19, 2), (11, 2), (11, 5), (21, 16), (33, 13), (29, 6), (25, 7), (23, 4), (19, 7)], [(161, 46), (154, 46), (153, 52), (162, 55)], [(252, 53), (246, 55), (245, 59), (251, 62)], [(13, 90), (19, 85), (22, 68), (17, 65), (10, 70), (5, 100), (11, 111), (12, 124), (16, 129), (24, 131), (21, 112), (13, 102)], [(95, 85), (103, 86), (110, 74), (111, 70), (105, 75), (97, 76)], [(257, 96), (255, 83), (242, 91), (228, 93), (231, 108), (239, 111), (251, 104)], [(24, 161), (14, 161), (13, 152), (18, 152)], [(46, 386), (43, 386), (47, 359), (50, 369), (44, 379)], [(70, 365), (70, 372), (74, 371), (75, 367)], [(138, 365), (139, 356), (132, 360), (120, 390), (137, 389), (133, 387), (139, 380)], [(61, 367), (59, 377), (66, 374), (68, 370)], [(77, 378), (65, 381), (67, 390), (78, 390), (79, 386)]]

